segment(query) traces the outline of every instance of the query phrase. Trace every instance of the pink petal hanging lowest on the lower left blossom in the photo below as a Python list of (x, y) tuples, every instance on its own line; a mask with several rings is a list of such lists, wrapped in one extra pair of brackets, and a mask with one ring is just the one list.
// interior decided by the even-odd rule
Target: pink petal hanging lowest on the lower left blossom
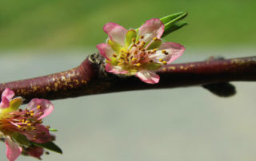
[(9, 136), (6, 137), (6, 155), (9, 161), (14, 161), (22, 154), (22, 147), (19, 147), (17, 143), (14, 143)]

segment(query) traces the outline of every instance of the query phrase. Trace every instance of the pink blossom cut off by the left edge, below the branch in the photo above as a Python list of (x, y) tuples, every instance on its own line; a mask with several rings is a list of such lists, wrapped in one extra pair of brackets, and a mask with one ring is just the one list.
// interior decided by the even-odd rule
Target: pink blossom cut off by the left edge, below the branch
[(19, 108), (22, 98), (13, 99), (13, 96), (14, 92), (6, 88), (0, 103), (0, 135), (5, 138), (7, 158), (13, 161), (26, 149), (27, 154), (40, 159), (42, 147), (34, 147), (31, 143), (51, 140), (50, 127), (42, 125), (42, 118), (54, 110), (54, 105), (49, 100), (33, 99), (22, 110)]

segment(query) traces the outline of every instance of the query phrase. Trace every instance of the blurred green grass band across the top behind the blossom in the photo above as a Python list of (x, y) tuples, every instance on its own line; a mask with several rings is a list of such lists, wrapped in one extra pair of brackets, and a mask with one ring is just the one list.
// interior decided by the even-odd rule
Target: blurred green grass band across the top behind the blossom
[(166, 37), (190, 47), (254, 47), (256, 1), (1, 0), (0, 49), (94, 49), (102, 27), (126, 28), (187, 11), (189, 26)]

